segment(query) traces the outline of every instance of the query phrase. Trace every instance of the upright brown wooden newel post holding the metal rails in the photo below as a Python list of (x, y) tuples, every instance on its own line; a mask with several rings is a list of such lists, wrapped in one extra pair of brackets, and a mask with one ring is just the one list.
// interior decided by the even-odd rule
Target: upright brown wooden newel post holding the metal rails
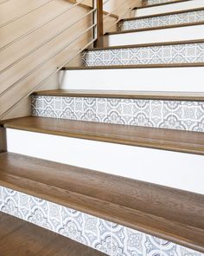
[(93, 8), (97, 8), (93, 22), (97, 23), (95, 35), (97, 40), (94, 47), (103, 47), (104, 45), (104, 21), (103, 21), (103, 0), (93, 0)]

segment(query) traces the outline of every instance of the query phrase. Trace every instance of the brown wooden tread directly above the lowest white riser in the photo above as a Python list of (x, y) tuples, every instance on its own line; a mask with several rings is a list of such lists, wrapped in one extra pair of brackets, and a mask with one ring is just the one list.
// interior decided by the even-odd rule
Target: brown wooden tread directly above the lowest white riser
[(164, 128), (145, 128), (92, 121), (28, 116), (1, 121), (14, 128), (49, 135), (92, 141), (105, 141), (144, 148), (157, 148), (190, 154), (204, 154), (204, 133)]

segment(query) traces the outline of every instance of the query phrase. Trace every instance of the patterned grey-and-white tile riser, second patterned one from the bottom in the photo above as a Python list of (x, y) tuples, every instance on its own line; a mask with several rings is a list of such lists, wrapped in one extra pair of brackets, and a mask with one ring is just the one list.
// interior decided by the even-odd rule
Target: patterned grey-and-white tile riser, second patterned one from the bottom
[(32, 114), (204, 132), (204, 102), (32, 96)]

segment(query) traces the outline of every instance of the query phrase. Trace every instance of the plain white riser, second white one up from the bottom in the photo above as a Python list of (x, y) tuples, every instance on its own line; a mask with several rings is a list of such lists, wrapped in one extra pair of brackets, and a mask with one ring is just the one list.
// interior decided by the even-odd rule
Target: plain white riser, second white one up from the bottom
[(204, 92), (204, 67), (61, 71), (61, 89)]

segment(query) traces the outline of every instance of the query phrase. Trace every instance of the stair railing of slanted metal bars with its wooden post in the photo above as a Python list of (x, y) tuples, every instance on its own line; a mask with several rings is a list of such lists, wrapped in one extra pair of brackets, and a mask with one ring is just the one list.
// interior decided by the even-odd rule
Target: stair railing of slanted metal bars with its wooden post
[[(8, 1), (8, 0), (7, 0)], [(2, 1), (1, 3), (7, 2), (7, 1)], [(30, 30), (29, 32), (23, 34), (22, 36), (17, 37), (15, 40), (13, 40), (10, 43), (7, 43), (6, 45), (4, 45), (0, 51), (7, 49), (9, 46), (11, 46), (13, 43), (16, 43), (19, 40), (22, 40), (22, 38), (29, 36), (30, 34), (34, 33), (36, 30), (41, 30), (42, 27), (46, 26), (48, 23), (51, 23), (52, 21), (54, 21), (55, 19), (57, 19), (58, 17), (62, 16), (63, 14), (67, 13), (70, 10), (73, 10), (73, 8), (77, 7), (80, 5), (80, 3), (83, 3), (85, 0), (80, 0), (77, 3), (73, 3), (73, 5), (70, 7), (68, 7), (66, 10), (64, 10), (63, 12), (61, 12), (61, 14), (54, 16), (50, 19), (48, 19), (47, 22), (41, 23), (40, 25), (36, 26), (34, 29)], [(0, 94), (0, 101), (1, 101), (1, 97), (3, 97), (3, 95), (6, 95), (8, 93), (10, 93), (10, 91), (14, 88), (16, 88), (16, 86), (25, 81), (30, 75), (35, 74), (35, 71), (41, 69), (43, 66), (45, 66), (49, 61), (52, 61), (54, 59), (54, 57), (58, 56), (63, 50), (70, 48), (74, 43), (76, 43), (82, 36), (85, 36), (87, 32), (92, 31), (92, 38), (90, 38), (90, 41), (88, 43), (86, 43), (86, 45), (84, 45), (84, 47), (82, 47), (81, 49), (77, 50), (76, 53), (73, 54), (73, 56), (67, 57), (66, 62), (61, 62), (60, 65), (58, 65), (58, 67), (54, 70), (50, 70), (49, 74), (46, 75), (46, 77), (42, 78), (41, 82), (39, 82), (38, 84), (36, 84), (35, 86), (33, 86), (32, 89), (29, 89), (29, 91), (27, 93), (25, 93), (25, 95), (23, 95), (20, 99), (18, 99), (14, 105), (12, 105), (11, 107), (9, 107), (8, 109), (6, 109), (2, 115), (0, 116), (0, 119), (2, 119), (4, 116), (8, 115), (10, 113), (10, 111), (12, 111), (14, 108), (16, 108), (16, 106), (18, 104), (20, 104), (24, 99), (26, 99), (30, 94), (32, 94), (36, 89), (39, 89), (41, 87), (41, 85), (48, 81), (48, 79), (54, 75), (54, 73), (57, 73), (58, 71), (61, 70), (61, 68), (63, 68), (64, 66), (66, 66), (69, 62), (73, 61), (73, 59), (76, 56), (80, 55), (80, 52), (82, 52), (84, 49), (88, 48), (89, 46), (91, 46), (93, 43), (95, 43), (95, 45), (97, 47), (102, 46), (103, 45), (103, 35), (106, 31), (104, 31), (104, 21), (112, 15), (113, 12), (115, 12), (116, 10), (118, 10), (120, 7), (123, 6), (123, 4), (125, 3), (125, 1), (123, 1), (122, 3), (118, 4), (118, 6), (108, 12), (105, 17), (104, 17), (104, 10), (103, 10), (103, 6), (110, 2), (112, 0), (93, 0), (92, 3), (92, 9), (90, 11), (88, 11), (86, 13), (86, 15), (80, 16), (79, 19), (77, 19), (76, 21), (74, 21), (73, 23), (69, 24), (66, 28), (64, 28), (63, 30), (59, 31), (58, 33), (56, 33), (54, 36), (49, 37), (45, 42), (37, 45), (35, 47), (35, 49), (30, 50), (28, 53), (26, 53), (25, 55), (21, 56), (20, 58), (18, 58), (15, 62), (10, 63), (10, 65), (8, 65), (7, 67), (3, 68), (2, 70), (0, 70), (0, 75), (5, 72), (7, 69), (12, 68), (13, 66), (15, 66), (18, 62), (23, 61), (25, 58), (27, 58), (28, 56), (32, 55), (36, 50), (41, 49), (41, 47), (43, 47), (44, 45), (46, 45), (47, 43), (51, 42), (52, 40), (54, 40), (54, 38), (56, 38), (57, 36), (60, 36), (62, 33), (64, 33), (67, 30), (73, 29), (74, 26), (78, 23), (80, 23), (83, 19), (85, 19), (87, 16), (92, 15), (92, 25), (89, 26), (88, 28), (86, 28), (86, 30), (83, 30), (79, 35), (75, 36), (73, 38), (72, 41), (66, 43), (64, 46), (61, 47), (61, 49), (58, 49), (57, 51), (54, 52), (54, 54), (52, 54), (51, 56), (48, 56), (48, 58), (46, 58), (45, 60), (43, 60), (40, 64), (36, 65), (34, 69), (29, 70), (29, 72), (25, 75), (23, 75), (20, 79), (18, 79), (16, 82), (14, 82), (13, 84), (11, 84), (7, 89), (3, 90), (3, 92)], [(49, 1), (49, 2), (52, 2)], [(128, 10), (129, 11), (129, 10)], [(124, 13), (126, 14), (127, 11)], [(17, 17), (16, 17), (17, 18)], [(118, 20), (116, 22), (114, 22), (112, 24), (112, 26), (114, 26), (116, 23), (118, 23)], [(112, 28), (108, 29), (111, 30)]]

